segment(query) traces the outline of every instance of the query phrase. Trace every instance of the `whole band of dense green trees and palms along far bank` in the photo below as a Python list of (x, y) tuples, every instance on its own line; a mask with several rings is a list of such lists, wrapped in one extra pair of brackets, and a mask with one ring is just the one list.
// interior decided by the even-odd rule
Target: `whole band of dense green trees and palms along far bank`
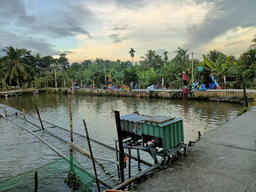
[[(168, 60), (168, 51), (157, 55), (156, 51), (148, 50), (141, 61), (132, 65), (131, 61), (110, 61), (96, 58), (83, 60), (80, 63), (70, 64), (67, 55), (60, 54), (59, 58), (43, 56), (24, 48), (6, 47), (2, 50), (6, 55), (0, 57), (1, 87), (55, 87), (55, 71), (58, 87), (72, 86), (72, 80), (77, 80), (78, 85), (90, 85), (95, 82), (96, 87), (109, 83), (109, 73), (112, 75), (112, 84), (125, 83), (134, 85), (139, 81), (141, 88), (155, 84), (158, 88), (164, 78), (166, 88), (181, 88), (183, 86), (182, 72), (188, 70), (188, 82), (191, 81), (191, 60), (188, 50), (178, 48), (177, 55)], [(127, 51), (132, 58), (136, 51), (131, 48)], [(225, 56), (218, 50), (213, 50), (208, 55), (203, 55), (203, 61), (193, 60), (194, 79), (198, 78), (197, 67), (203, 67), (200, 73), (200, 83), (212, 83), (214, 75), (221, 86), (228, 88), (240, 87), (240, 77), (253, 80), (256, 75), (255, 50), (243, 53), (239, 60), (234, 56)], [(240, 72), (240, 73), (238, 73)], [(191, 82), (189, 82), (191, 85)], [(255, 87), (253, 84), (251, 88)]]

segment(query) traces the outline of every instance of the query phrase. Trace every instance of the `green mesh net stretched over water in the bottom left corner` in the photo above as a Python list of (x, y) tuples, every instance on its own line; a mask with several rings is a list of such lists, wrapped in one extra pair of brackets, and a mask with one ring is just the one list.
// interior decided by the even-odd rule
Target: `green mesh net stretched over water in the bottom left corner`
[[(38, 182), (35, 182), (35, 172)], [(0, 181), (0, 191), (92, 191), (95, 178), (70, 154), (38, 169)]]

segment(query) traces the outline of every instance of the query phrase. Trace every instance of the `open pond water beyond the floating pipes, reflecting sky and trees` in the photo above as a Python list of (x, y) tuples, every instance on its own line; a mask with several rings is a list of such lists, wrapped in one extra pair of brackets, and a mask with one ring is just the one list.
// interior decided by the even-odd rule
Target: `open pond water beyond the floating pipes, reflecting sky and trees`
[(0, 102), (16, 109), (23, 108), (36, 116), (35, 104), (45, 120), (69, 129), (68, 100), (73, 101), (73, 127), (84, 133), (82, 119), (87, 121), (92, 137), (113, 144), (117, 137), (114, 110), (120, 115), (132, 112), (151, 115), (183, 117), (185, 141), (195, 141), (197, 132), (202, 134), (232, 119), (240, 105), (196, 100), (141, 99), (132, 97), (95, 97), (83, 95), (40, 94), (1, 98)]

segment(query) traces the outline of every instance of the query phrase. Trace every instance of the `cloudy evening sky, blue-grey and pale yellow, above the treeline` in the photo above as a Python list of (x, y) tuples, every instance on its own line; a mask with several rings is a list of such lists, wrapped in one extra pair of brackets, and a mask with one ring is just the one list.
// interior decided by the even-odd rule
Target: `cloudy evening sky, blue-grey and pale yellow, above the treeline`
[(149, 49), (171, 60), (178, 47), (200, 60), (214, 48), (238, 57), (256, 35), (255, 13), (255, 0), (1, 0), (0, 48), (67, 53), (70, 63), (131, 60), (131, 48), (134, 61)]

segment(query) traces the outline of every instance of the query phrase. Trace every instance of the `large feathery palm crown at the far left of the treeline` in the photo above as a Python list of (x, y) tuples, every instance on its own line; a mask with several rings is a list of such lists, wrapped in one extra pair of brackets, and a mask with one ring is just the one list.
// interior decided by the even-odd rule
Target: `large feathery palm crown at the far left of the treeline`
[(3, 61), (4, 67), (1, 69), (4, 71), (5, 79), (9, 77), (10, 85), (11, 80), (15, 80), (18, 87), (20, 87), (19, 77), (22, 76), (24, 80), (30, 77), (29, 73), (26, 72), (26, 67), (29, 67), (29, 65), (21, 63), (21, 58), (26, 53), (26, 49), (14, 49), (13, 46), (6, 46), (2, 51), (7, 55), (7, 59)]

